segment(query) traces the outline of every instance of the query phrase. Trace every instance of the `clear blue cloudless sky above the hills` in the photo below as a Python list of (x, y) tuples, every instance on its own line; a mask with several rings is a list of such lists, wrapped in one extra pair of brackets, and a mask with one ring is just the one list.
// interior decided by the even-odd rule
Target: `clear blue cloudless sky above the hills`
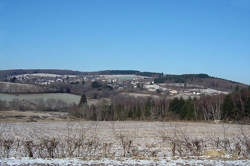
[(0, 0), (0, 70), (16, 68), (250, 84), (250, 0)]

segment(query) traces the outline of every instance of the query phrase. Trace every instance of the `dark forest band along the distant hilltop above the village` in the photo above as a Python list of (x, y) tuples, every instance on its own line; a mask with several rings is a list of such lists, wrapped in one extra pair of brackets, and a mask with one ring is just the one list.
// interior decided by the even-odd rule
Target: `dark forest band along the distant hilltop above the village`
[(0, 80), (5, 81), (7, 77), (21, 74), (48, 73), (58, 75), (139, 75), (152, 77), (155, 83), (188, 83), (202, 86), (204, 88), (212, 88), (221, 91), (232, 92), (235, 88), (246, 88), (247, 85), (225, 80), (221, 78), (211, 77), (207, 74), (183, 74), (169, 75), (156, 72), (140, 72), (137, 70), (104, 70), (96, 72), (80, 72), (72, 70), (55, 70), (55, 69), (29, 69), (29, 70), (0, 70)]

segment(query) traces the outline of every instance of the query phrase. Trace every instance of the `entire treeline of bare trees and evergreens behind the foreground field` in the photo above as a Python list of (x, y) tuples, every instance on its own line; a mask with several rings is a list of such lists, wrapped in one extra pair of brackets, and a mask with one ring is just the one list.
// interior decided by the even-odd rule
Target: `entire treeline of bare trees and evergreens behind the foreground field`
[[(84, 100), (85, 101), (85, 100)], [(98, 105), (80, 104), (70, 110), (87, 120), (230, 120), (249, 121), (250, 90), (200, 99), (158, 99), (115, 96)]]

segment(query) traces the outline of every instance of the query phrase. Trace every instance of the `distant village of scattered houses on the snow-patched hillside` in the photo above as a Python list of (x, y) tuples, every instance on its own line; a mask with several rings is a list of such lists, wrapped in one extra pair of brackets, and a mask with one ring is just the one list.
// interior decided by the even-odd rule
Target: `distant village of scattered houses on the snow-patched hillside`
[(136, 93), (167, 95), (169, 97), (194, 98), (201, 95), (227, 94), (227, 92), (185, 83), (155, 83), (154, 78), (138, 75), (56, 75), (46, 73), (22, 74), (8, 77), (10, 82), (48, 86), (56, 83), (81, 84), (98, 81), (118, 90), (137, 90)]

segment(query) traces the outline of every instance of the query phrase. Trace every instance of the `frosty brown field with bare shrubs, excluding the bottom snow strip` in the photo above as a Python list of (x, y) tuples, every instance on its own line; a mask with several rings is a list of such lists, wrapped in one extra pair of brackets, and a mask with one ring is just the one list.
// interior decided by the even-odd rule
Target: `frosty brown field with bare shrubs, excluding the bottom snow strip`
[[(17, 127), (10, 123), (1, 123), (0, 158), (16, 156), (100, 159), (103, 157), (151, 158), (162, 155), (173, 157), (209, 155), (209, 157), (217, 158), (229, 155), (233, 159), (249, 159), (250, 157), (248, 128), (244, 129), (243, 126), (232, 125), (230, 129), (230, 125), (224, 124), (213, 126), (202, 123), (193, 125), (191, 123), (157, 123), (153, 125), (152, 123), (152, 126), (148, 128), (148, 123), (106, 122), (99, 124), (88, 122), (85, 125), (68, 123), (66, 127), (64, 124), (59, 124), (60, 127), (56, 128), (47, 126), (42, 131), (33, 128), (36, 126), (34, 124), (28, 126), (23, 123), (18, 124), (19, 127)], [(25, 127), (25, 130), (19, 131), (25, 132), (23, 136), (18, 133), (18, 130), (15, 130), (20, 128), (20, 125)], [(139, 128), (137, 128), (138, 125)], [(199, 128), (196, 133), (194, 125), (204, 128)], [(27, 127), (31, 130), (27, 130)], [(210, 135), (208, 132), (202, 134), (203, 131), (212, 130), (213, 127), (215, 127), (213, 132), (220, 132), (220, 134), (216, 136), (212, 133)], [(191, 129), (191, 132), (187, 131), (188, 129)], [(146, 132), (146, 130), (148, 131)], [(224, 132), (221, 133), (221, 131)]]

